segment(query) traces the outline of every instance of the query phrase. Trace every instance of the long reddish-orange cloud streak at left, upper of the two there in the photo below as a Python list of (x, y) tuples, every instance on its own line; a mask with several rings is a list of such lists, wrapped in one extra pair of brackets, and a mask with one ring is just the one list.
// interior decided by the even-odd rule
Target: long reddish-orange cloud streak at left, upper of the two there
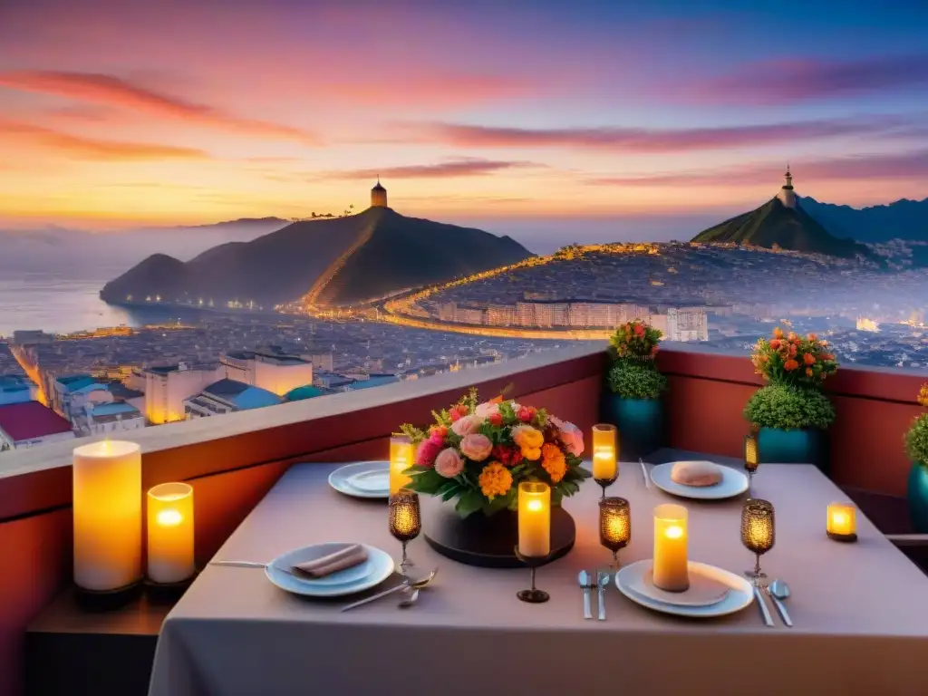
[(318, 144), (315, 135), (299, 128), (242, 118), (206, 104), (170, 97), (113, 75), (96, 72), (6, 71), (0, 72), (0, 86), (144, 111), (161, 118), (195, 122), (246, 135)]

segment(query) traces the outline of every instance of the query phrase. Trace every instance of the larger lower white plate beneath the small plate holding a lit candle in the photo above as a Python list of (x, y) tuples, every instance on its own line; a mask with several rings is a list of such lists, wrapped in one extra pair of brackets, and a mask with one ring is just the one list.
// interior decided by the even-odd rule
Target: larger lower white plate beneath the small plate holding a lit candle
[(690, 574), (697, 573), (727, 585), (730, 591), (724, 599), (714, 604), (692, 605), (672, 604), (662, 599), (655, 599), (648, 594), (648, 585), (645, 575), (651, 572), (654, 561), (638, 561), (619, 570), (615, 574), (615, 586), (628, 599), (647, 607), (655, 612), (671, 613), (676, 616), (689, 616), (690, 618), (705, 619), (714, 616), (726, 616), (729, 613), (741, 612), (754, 601), (754, 588), (751, 583), (734, 573), (716, 568), (708, 563), (690, 561)]

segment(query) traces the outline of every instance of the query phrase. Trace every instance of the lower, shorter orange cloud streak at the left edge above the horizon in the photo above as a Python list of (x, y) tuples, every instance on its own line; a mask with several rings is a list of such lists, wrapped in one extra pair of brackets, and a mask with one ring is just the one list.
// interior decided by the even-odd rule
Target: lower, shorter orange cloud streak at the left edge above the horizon
[(125, 142), (71, 135), (29, 123), (0, 121), (0, 138), (12, 136), (27, 139), (65, 157), (81, 160), (205, 160), (209, 155), (201, 149), (178, 148), (155, 143)]

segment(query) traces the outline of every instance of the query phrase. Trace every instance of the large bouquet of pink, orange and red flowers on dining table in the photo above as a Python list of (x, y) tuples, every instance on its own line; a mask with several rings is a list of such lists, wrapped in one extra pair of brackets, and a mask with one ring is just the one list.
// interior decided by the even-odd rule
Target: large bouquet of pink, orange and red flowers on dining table
[(407, 487), (443, 500), (457, 498), (461, 517), (516, 509), (522, 481), (548, 483), (551, 504), (558, 505), (591, 476), (580, 466), (583, 432), (543, 408), (502, 396), (480, 403), (471, 389), (432, 416), (428, 431), (402, 427), (416, 446), (415, 465), (406, 470), (412, 479)]

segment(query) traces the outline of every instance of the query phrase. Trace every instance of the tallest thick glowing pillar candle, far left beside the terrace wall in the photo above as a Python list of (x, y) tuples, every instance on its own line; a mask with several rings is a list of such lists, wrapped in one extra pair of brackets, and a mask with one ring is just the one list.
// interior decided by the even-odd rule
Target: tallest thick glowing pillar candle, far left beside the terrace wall
[(74, 450), (74, 583), (94, 592), (142, 577), (142, 451), (104, 441)]

